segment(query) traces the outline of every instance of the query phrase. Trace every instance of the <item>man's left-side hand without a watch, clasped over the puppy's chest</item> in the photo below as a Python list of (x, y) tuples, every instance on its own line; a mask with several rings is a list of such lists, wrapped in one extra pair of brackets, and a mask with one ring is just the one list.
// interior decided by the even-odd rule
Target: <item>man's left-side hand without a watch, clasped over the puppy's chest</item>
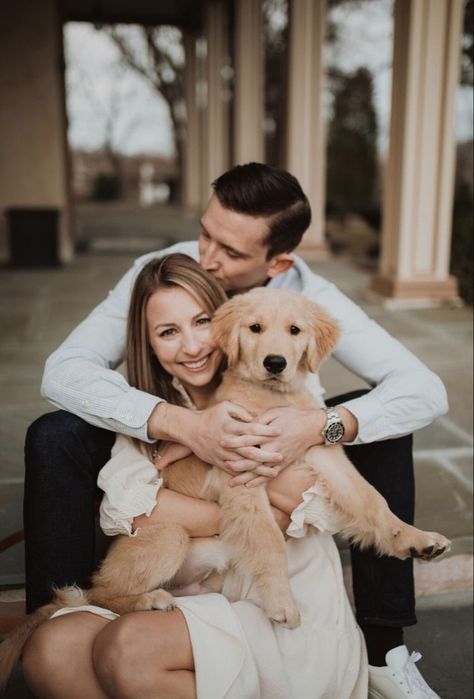
[[(240, 405), (223, 401), (205, 410), (193, 411), (170, 403), (159, 403), (148, 420), (148, 434), (154, 439), (180, 442), (203, 461), (235, 475), (265, 464), (265, 473), (280, 463), (281, 454), (260, 448), (280, 436), (279, 429), (260, 421)], [(232, 447), (238, 439), (238, 447)]]

